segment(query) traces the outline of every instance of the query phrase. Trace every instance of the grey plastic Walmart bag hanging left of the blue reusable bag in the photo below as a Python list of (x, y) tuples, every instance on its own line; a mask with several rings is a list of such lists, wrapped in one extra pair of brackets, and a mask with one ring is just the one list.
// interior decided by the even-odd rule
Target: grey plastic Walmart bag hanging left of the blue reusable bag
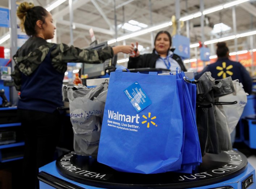
[[(74, 132), (74, 151), (78, 155), (97, 156), (107, 94), (107, 91), (104, 91), (106, 85), (104, 83), (98, 85), (87, 95), (70, 100), (70, 120)], [(103, 92), (99, 93), (102, 90)]]

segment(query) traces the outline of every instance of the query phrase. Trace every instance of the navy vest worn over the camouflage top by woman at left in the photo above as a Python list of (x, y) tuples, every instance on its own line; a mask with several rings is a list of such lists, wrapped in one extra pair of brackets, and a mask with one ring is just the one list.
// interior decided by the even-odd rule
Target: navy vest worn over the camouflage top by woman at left
[(29, 76), (22, 73), (19, 109), (53, 112), (63, 106), (62, 81), (64, 74), (51, 63), (50, 52)]

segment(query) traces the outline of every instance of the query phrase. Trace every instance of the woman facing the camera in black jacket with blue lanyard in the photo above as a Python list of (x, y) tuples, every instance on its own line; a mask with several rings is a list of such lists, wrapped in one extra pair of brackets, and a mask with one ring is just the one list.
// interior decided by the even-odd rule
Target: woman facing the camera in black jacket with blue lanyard
[[(163, 68), (176, 72), (176, 68), (187, 71), (181, 57), (174, 54), (175, 49), (171, 49), (172, 38), (168, 31), (159, 31), (155, 37), (155, 48), (152, 53), (140, 55), (139, 51), (134, 57), (129, 57), (127, 68)], [(134, 44), (132, 43), (134, 46)], [(138, 48), (138, 42), (136, 43)]]

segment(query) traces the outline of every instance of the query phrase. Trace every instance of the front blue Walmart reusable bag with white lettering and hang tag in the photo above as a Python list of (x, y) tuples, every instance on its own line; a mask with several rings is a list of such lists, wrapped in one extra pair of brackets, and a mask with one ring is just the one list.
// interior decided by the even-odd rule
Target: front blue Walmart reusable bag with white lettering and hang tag
[(183, 123), (176, 76), (120, 70), (110, 74), (97, 161), (124, 172), (179, 170)]

